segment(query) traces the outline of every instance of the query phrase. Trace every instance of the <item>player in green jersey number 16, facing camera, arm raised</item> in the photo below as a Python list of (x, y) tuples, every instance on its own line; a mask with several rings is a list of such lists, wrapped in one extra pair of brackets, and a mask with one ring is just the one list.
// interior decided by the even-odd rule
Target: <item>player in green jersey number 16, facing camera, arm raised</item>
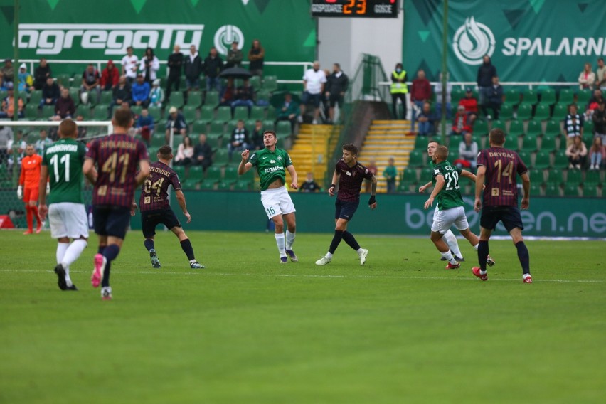
[[(263, 132), (263, 145), (265, 149), (257, 150), (252, 155), (250, 151), (242, 152), (242, 161), (238, 166), (238, 174), (255, 167), (261, 182), (261, 203), (265, 208), (267, 218), (275, 224), (275, 238), (278, 251), (280, 252), (280, 263), (287, 264), (290, 257), (292, 262), (298, 262), (297, 255), (292, 250), (296, 223), (294, 220), (294, 203), (286, 189), (286, 171), (291, 178), (290, 187), (297, 189), (297, 171), (294, 170), (290, 156), (286, 150), (276, 147), (276, 132), (266, 130)], [(250, 155), (250, 159), (248, 156)], [(284, 222), (286, 221), (286, 236), (284, 234)]]

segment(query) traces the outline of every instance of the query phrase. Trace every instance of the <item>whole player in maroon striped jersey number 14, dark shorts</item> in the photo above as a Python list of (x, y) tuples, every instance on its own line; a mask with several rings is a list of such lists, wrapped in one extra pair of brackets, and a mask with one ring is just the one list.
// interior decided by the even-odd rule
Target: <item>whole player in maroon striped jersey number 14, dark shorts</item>
[[(524, 283), (532, 283), (530, 274), (530, 257), (528, 248), (522, 238), (522, 218), (518, 208), (518, 186), (516, 174), (522, 179), (524, 195), (522, 209), (528, 209), (530, 201), (530, 176), (528, 168), (520, 156), (509, 149), (505, 149), (505, 132), (502, 129), (492, 129), (489, 133), (490, 148), (478, 154), (478, 171), (476, 181), (475, 211), (482, 209), (480, 216), (480, 241), (478, 245), (479, 267), (474, 267), (474, 275), (481, 280), (488, 280), (486, 273), (486, 260), (489, 252), (488, 240), (492, 230), (499, 221), (503, 222), (506, 230), (514, 240), (518, 250), (518, 258), (522, 266)], [(482, 194), (482, 186), (484, 195)]]

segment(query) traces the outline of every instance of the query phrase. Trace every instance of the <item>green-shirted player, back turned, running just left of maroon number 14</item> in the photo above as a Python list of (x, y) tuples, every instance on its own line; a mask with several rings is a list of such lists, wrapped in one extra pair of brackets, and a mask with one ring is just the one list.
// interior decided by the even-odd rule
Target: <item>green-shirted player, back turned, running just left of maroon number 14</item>
[(447, 270), (454, 270), (459, 267), (459, 262), (454, 260), (450, 248), (442, 239), (448, 229), (454, 224), (461, 235), (467, 238), (469, 243), (475, 250), (478, 249), (479, 239), (469, 230), (467, 216), (465, 216), (464, 202), (461, 196), (459, 186), (459, 176), (467, 177), (472, 181), (476, 181), (476, 176), (467, 170), (459, 169), (450, 164), (448, 158), (448, 148), (438, 146), (433, 152), (432, 161), (434, 164), (433, 176), (435, 178), (435, 187), (425, 201), (425, 209), (433, 206), (433, 202), (437, 197), (437, 213), (433, 217), (431, 226), (431, 240), (442, 257), (448, 261)]

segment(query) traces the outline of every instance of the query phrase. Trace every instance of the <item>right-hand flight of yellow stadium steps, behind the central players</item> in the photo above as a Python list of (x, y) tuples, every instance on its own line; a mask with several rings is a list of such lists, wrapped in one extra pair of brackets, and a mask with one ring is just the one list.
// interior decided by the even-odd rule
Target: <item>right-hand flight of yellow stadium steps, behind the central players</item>
[[(415, 138), (408, 137), (410, 121), (383, 121), (375, 120), (368, 129), (366, 139), (358, 159), (362, 164), (369, 164), (371, 160), (377, 165), (377, 192), (387, 191), (387, 182), (383, 177), (388, 160), (393, 157), (398, 174), (408, 166), (408, 156), (415, 147)], [(396, 187), (398, 180), (396, 180)]]

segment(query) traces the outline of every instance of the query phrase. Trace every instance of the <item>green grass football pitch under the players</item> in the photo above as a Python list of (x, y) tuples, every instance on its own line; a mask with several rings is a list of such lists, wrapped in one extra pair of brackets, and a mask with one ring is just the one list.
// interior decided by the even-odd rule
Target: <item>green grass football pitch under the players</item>
[[(354, 234), (356, 228), (351, 229)], [(429, 229), (427, 229), (429, 231)], [(603, 403), (605, 243), (494, 240), (445, 270), (429, 238), (357, 235), (314, 265), (329, 234), (298, 234), (280, 265), (266, 233), (189, 232), (205, 270), (159, 233), (90, 286), (94, 236), (61, 292), (47, 232), (0, 231), (0, 403)]]

